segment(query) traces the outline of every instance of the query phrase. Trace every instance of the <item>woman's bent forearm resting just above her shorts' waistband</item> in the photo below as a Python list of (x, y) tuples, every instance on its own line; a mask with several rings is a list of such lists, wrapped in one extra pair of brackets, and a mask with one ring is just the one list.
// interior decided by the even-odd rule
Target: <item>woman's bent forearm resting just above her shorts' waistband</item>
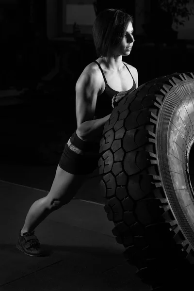
[(103, 128), (107, 120), (109, 120), (111, 114), (95, 119), (95, 120), (87, 120), (83, 122), (80, 127), (76, 130), (77, 134), (80, 136), (82, 140), (92, 141), (97, 137), (100, 137), (102, 134)]

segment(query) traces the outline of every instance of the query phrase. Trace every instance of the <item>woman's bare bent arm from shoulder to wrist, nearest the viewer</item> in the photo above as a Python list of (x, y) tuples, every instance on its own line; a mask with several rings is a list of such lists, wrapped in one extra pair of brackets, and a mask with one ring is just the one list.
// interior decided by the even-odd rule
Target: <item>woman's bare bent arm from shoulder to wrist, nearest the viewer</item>
[(82, 73), (76, 83), (76, 118), (79, 138), (84, 141), (97, 141), (105, 123), (111, 114), (94, 120), (96, 109), (97, 94), (100, 90), (100, 82), (95, 70), (89, 73)]

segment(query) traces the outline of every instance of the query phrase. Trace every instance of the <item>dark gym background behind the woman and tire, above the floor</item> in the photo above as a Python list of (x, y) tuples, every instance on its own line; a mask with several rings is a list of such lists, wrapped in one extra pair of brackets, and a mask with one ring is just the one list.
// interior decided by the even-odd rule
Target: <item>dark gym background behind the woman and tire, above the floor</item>
[[(71, 35), (62, 32), (61, 0), (56, 1), (57, 37), (48, 38), (52, 19), (47, 2), (0, 0), (1, 164), (57, 165), (76, 129), (76, 81), (97, 59), (91, 35), (82, 35), (79, 28)], [(135, 27), (136, 2), (99, 0), (95, 9), (125, 8)], [(170, 16), (157, 11), (157, 0), (146, 3), (144, 32), (134, 30), (133, 50), (123, 57), (137, 68), (139, 85), (161, 75), (194, 71), (193, 40), (177, 38)]]

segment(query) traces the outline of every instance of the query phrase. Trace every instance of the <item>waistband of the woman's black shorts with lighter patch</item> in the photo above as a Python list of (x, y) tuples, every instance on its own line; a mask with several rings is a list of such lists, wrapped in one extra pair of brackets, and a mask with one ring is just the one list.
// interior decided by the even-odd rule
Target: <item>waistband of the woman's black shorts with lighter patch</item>
[(82, 141), (78, 137), (76, 131), (74, 131), (74, 133), (70, 137), (70, 141), (71, 141), (72, 145), (77, 146), (78, 148), (80, 148), (83, 151), (98, 151), (99, 150), (99, 143)]

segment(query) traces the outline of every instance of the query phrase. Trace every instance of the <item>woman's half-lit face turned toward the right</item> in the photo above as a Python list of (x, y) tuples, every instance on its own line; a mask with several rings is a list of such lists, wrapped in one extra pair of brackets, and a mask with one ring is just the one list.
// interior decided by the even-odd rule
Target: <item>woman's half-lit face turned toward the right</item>
[(133, 34), (133, 26), (132, 26), (132, 23), (129, 22), (128, 27), (125, 31), (123, 40), (117, 49), (118, 55), (128, 56), (130, 54), (130, 51), (134, 43), (134, 38), (132, 34)]

